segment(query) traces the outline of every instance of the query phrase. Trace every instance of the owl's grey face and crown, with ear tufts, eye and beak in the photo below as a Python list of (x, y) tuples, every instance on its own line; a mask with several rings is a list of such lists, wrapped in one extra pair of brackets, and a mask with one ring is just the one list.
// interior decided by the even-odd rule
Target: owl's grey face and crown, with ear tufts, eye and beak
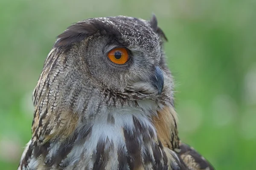
[(77, 81), (137, 99), (155, 98), (170, 92), (172, 84), (164, 38), (154, 16), (149, 21), (104, 17), (75, 23), (54, 47), (66, 53)]

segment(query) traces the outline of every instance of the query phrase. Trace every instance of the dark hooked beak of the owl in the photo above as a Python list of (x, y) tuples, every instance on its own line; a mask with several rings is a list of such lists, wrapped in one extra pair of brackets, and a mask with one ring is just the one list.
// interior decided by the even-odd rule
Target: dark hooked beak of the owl
[(158, 95), (163, 91), (163, 71), (156, 66), (154, 70), (154, 76), (151, 78), (151, 82), (158, 90)]

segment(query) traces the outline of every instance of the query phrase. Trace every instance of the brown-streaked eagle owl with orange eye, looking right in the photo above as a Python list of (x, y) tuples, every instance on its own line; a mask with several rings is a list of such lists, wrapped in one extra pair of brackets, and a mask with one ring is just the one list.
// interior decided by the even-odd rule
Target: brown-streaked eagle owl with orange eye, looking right
[(33, 92), (18, 170), (213, 170), (178, 137), (166, 40), (155, 16), (68, 27)]

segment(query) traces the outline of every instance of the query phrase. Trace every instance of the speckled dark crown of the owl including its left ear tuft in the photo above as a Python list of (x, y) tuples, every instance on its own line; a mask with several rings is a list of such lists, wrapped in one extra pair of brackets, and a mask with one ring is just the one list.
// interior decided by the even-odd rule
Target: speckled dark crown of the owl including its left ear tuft
[(58, 36), (54, 46), (68, 50), (74, 43), (93, 35), (121, 40), (133, 48), (153, 50), (159, 47), (159, 37), (148, 21), (125, 16), (91, 18), (75, 23)]

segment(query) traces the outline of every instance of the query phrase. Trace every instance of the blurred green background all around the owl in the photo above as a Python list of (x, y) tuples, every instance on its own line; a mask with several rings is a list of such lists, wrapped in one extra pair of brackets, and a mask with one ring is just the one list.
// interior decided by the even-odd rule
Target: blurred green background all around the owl
[(0, 170), (31, 137), (32, 90), (55, 37), (90, 17), (157, 16), (181, 139), (217, 170), (256, 169), (255, 0), (1, 0)]

